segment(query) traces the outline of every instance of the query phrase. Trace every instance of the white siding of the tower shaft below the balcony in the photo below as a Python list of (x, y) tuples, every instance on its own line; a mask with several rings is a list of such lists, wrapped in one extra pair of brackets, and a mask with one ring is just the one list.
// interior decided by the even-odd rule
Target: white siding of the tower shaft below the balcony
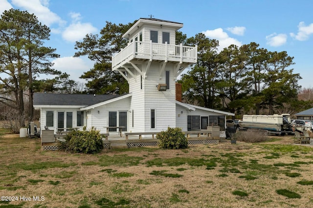
[[(145, 65), (139, 65), (145, 69)], [(141, 69), (144, 71), (143, 69)], [(165, 71), (170, 71), (170, 89), (158, 91), (157, 85), (165, 83)], [(142, 80), (140, 89), (140, 73), (132, 70), (136, 77), (129, 78), (130, 93), (132, 93), (130, 110), (134, 111), (134, 127), (131, 124), (131, 132), (159, 132), (167, 127), (176, 127), (176, 101), (175, 101), (175, 80), (174, 66), (167, 64), (160, 78), (160, 64), (152, 63)], [(155, 128), (151, 128), (151, 109), (155, 109)], [(131, 119), (132, 121), (132, 119)]]

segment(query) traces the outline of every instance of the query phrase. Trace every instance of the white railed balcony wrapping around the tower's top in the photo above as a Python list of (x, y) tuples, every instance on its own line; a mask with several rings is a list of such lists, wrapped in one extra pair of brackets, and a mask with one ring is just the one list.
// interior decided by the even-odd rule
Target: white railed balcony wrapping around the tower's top
[(192, 64), (197, 62), (197, 46), (183, 46), (134, 41), (112, 57), (112, 70), (124, 69), (123, 65), (132, 60), (165, 61)]

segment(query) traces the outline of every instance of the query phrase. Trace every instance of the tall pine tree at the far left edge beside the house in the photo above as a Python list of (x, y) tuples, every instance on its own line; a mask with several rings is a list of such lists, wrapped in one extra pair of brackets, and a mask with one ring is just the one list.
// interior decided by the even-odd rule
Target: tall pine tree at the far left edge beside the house
[(51, 58), (59, 57), (56, 49), (44, 46), (49, 33), (50, 29), (27, 11), (10, 9), (1, 15), (0, 102), (20, 113), (21, 126), (25, 114), (23, 92), (28, 90), (28, 120), (32, 121), (34, 81), (41, 74), (61, 75), (51, 68)]

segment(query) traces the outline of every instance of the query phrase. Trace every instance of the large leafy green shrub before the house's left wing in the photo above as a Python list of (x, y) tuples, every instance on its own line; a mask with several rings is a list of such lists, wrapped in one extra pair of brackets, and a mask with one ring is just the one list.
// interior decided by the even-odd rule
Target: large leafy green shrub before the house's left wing
[(103, 141), (100, 131), (94, 127), (88, 131), (84, 127), (83, 131), (73, 130), (65, 137), (65, 141), (61, 142), (59, 148), (71, 152), (83, 152), (87, 154), (98, 153), (103, 149)]

